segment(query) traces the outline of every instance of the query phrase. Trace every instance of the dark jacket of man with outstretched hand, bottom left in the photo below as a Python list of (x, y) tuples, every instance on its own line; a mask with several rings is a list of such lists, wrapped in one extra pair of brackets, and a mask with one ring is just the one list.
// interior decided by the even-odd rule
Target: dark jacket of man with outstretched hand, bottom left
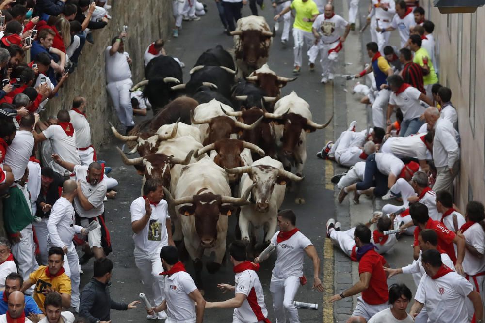
[(79, 304), (79, 316), (87, 318), (91, 323), (96, 323), (97, 320), (109, 321), (110, 309), (128, 309), (126, 303), (113, 301), (108, 286), (94, 277), (84, 286)]

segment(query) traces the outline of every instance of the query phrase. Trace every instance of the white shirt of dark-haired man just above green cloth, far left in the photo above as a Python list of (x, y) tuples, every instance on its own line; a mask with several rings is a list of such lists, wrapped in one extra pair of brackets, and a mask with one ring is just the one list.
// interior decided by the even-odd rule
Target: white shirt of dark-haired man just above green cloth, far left
[(14, 179), (24, 176), (27, 163), (32, 155), (35, 139), (30, 131), (17, 130), (12, 144), (8, 146), (4, 163), (12, 168)]

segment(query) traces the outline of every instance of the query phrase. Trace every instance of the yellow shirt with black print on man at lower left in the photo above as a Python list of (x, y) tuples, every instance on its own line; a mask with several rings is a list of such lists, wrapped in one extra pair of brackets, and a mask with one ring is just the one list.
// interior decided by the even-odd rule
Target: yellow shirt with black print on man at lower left
[(50, 287), (61, 294), (71, 294), (71, 279), (64, 272), (56, 277), (49, 277), (46, 275), (46, 270), (49, 270), (48, 266), (39, 266), (36, 271), (29, 275), (29, 278), (35, 281), (33, 299), (42, 311), (44, 311), (44, 300), (46, 299), (42, 292), (46, 287)]

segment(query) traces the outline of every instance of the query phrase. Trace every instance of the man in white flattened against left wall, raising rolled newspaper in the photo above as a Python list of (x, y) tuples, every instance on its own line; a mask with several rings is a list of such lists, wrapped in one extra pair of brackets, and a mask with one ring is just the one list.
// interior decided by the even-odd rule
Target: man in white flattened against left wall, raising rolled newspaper
[(133, 85), (131, 80), (131, 58), (124, 51), (123, 37), (126, 32), (113, 38), (111, 46), (106, 48), (106, 82), (108, 93), (113, 101), (114, 109), (128, 133), (135, 123), (133, 122), (133, 109), (129, 89)]

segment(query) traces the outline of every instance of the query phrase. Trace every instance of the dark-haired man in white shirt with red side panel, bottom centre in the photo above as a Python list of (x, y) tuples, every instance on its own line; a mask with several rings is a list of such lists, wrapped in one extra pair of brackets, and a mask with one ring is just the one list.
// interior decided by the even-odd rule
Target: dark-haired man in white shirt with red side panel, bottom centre
[[(246, 245), (242, 241), (234, 241), (229, 246), (229, 254), (235, 273), (234, 285), (218, 284), (217, 287), (223, 292), (234, 292), (234, 298), (223, 302), (206, 302), (206, 308), (234, 308), (232, 323), (270, 322), (264, 304), (263, 287), (257, 274), (259, 264), (246, 261)], [(275, 315), (281, 317), (276, 311)], [(280, 322), (278, 318), (276, 320)]]

